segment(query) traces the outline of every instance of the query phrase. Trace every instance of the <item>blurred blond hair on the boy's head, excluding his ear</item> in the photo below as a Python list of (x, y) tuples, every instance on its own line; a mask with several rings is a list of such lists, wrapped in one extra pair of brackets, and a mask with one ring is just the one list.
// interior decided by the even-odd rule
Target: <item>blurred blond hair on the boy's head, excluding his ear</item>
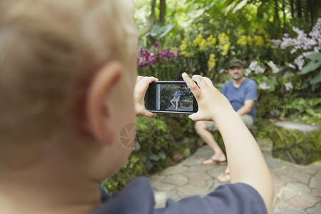
[(111, 60), (126, 70), (136, 29), (125, 0), (0, 4), (1, 163), (77, 131), (93, 72)]

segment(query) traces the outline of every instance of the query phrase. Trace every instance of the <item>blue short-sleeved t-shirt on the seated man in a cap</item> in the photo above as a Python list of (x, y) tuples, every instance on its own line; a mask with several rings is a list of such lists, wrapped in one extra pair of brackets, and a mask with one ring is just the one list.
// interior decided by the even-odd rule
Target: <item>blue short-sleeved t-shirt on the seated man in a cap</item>
[[(222, 88), (223, 95), (228, 98), (230, 104), (234, 108), (235, 111), (238, 111), (242, 106), (244, 106), (244, 102), (247, 100), (258, 101), (258, 88), (255, 81), (250, 78), (245, 78), (245, 81), (240, 85), (240, 87), (235, 88), (233, 86), (233, 81), (228, 81), (223, 85)], [(250, 116), (253, 116), (253, 120), (255, 121), (255, 103), (250, 111)]]

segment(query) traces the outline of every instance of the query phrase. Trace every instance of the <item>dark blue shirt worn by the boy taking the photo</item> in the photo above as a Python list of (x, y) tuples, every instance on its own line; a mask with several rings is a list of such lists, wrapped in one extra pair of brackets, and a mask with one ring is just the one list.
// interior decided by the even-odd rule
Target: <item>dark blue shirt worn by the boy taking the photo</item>
[(205, 197), (194, 195), (175, 202), (168, 199), (164, 208), (154, 208), (153, 189), (148, 178), (136, 178), (117, 195), (102, 191), (102, 205), (93, 214), (192, 214), (192, 213), (267, 213), (258, 192), (245, 183), (220, 185)]

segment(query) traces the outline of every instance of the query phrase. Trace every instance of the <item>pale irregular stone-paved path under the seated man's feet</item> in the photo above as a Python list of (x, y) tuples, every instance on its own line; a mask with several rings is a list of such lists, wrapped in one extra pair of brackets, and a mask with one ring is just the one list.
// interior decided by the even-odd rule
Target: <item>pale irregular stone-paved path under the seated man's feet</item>
[[(310, 165), (295, 165), (272, 158), (272, 143), (258, 139), (275, 185), (272, 213), (321, 213), (321, 161)], [(203, 146), (193, 156), (178, 165), (150, 176), (156, 206), (165, 205), (166, 198), (178, 200), (188, 195), (206, 195), (220, 183), (218, 175), (225, 165), (205, 166), (201, 162), (213, 155)]]

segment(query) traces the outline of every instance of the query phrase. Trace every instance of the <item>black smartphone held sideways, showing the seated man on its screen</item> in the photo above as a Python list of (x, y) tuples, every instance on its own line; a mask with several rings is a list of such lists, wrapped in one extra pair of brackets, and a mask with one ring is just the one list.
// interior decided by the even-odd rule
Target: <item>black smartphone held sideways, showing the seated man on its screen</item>
[(155, 81), (146, 92), (146, 109), (156, 113), (186, 113), (198, 111), (198, 103), (185, 81)]

